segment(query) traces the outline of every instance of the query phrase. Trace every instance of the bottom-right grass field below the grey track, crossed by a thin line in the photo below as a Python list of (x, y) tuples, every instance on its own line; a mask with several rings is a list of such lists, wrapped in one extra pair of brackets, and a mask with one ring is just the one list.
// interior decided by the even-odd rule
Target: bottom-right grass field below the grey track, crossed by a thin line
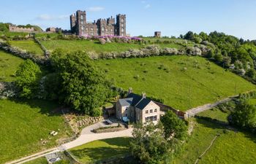
[[(219, 109), (207, 111), (200, 114), (201, 116), (216, 118), (223, 120), (227, 117), (226, 113), (222, 113)], [(215, 113), (215, 114), (214, 114)], [(218, 119), (219, 118), (219, 119)], [(225, 130), (225, 126), (218, 125), (202, 119), (193, 119), (195, 128), (192, 136), (184, 144), (184, 151), (179, 152), (174, 157), (173, 164), (190, 164), (195, 163), (205, 149), (210, 145), (211, 140), (218, 133), (220, 136), (214, 141), (211, 149), (206, 152), (200, 164), (229, 164), (229, 163), (255, 163), (256, 161), (256, 139), (255, 136), (246, 132), (235, 132), (233, 130)], [(227, 120), (225, 120), (227, 122)]]

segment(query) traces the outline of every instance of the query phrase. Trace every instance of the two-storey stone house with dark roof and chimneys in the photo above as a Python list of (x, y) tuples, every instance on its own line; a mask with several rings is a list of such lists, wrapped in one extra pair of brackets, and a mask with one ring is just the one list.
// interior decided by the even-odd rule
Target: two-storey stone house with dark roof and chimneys
[(146, 94), (136, 95), (129, 89), (127, 98), (121, 98), (116, 103), (116, 117), (119, 120), (130, 122), (154, 122), (160, 119), (160, 107)]

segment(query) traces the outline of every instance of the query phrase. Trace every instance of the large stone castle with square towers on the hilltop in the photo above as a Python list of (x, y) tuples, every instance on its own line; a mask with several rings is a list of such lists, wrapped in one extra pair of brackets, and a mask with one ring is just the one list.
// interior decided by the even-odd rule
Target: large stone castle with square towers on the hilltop
[(86, 20), (86, 11), (78, 10), (70, 15), (70, 28), (72, 34), (78, 36), (127, 36), (127, 17), (126, 15), (116, 15), (108, 19), (94, 20), (89, 23)]

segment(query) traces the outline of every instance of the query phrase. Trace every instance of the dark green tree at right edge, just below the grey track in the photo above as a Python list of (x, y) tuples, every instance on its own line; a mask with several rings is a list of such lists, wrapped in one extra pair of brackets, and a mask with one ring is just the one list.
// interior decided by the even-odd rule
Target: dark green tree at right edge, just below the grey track
[(228, 120), (231, 125), (240, 128), (256, 128), (256, 106), (249, 104), (246, 100), (241, 100), (231, 112)]

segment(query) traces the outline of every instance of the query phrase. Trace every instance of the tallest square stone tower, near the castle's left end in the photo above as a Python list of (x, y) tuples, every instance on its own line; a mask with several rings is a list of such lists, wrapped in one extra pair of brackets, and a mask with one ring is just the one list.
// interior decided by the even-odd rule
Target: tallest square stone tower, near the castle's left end
[(86, 11), (77, 11), (76, 14), (76, 33), (79, 36), (86, 34)]

